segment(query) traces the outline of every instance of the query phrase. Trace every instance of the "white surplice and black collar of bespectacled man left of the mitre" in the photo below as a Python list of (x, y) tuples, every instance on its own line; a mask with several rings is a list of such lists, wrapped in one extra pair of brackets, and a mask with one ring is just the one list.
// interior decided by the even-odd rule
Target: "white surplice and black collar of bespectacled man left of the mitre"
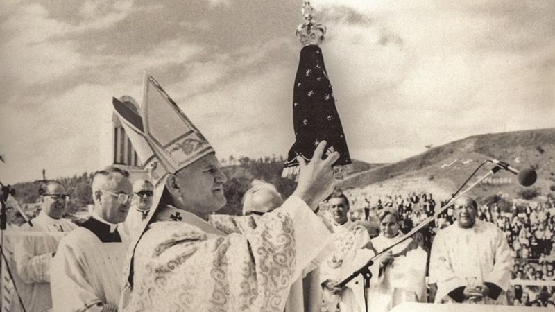
[(116, 225), (89, 218), (69, 233), (52, 263), (53, 311), (101, 311), (117, 306), (123, 288), (123, 266), (130, 245)]

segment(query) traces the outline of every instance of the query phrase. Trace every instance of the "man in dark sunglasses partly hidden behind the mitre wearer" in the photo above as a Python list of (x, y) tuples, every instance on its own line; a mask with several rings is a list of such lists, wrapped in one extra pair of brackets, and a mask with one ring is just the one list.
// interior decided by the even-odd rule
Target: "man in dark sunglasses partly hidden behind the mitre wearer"
[(151, 211), (154, 186), (144, 179), (133, 183), (133, 205), (129, 209), (123, 229), (133, 240), (139, 235), (148, 213)]

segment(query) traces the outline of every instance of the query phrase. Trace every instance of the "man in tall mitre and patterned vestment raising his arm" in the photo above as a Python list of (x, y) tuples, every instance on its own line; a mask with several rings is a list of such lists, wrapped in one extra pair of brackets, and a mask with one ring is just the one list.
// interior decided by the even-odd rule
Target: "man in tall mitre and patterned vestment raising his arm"
[(313, 209), (333, 189), (339, 154), (322, 160), (319, 144), (318, 159), (301, 161), (293, 195), (252, 232), (219, 229), (207, 222), (226, 202), (214, 149), (152, 77), (145, 83), (142, 116), (114, 98), (155, 184), (155, 211), (127, 263), (120, 309), (282, 312), (291, 284), (329, 240)]

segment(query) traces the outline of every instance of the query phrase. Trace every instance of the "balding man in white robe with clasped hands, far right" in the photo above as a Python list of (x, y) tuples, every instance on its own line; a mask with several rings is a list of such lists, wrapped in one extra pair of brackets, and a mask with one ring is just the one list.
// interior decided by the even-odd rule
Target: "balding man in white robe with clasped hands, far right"
[(511, 249), (504, 233), (477, 214), (476, 201), (461, 196), (454, 202), (456, 223), (434, 239), (429, 277), (438, 303), (507, 304)]

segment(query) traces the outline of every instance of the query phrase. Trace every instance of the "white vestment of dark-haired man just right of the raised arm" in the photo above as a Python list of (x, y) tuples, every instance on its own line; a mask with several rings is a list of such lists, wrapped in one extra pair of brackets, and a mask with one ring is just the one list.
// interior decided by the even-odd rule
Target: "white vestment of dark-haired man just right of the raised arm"
[[(370, 236), (361, 225), (348, 220), (343, 225), (332, 223), (331, 227), (334, 250), (320, 267), (321, 283), (342, 281), (374, 255), (372, 250), (364, 248), (370, 242)], [(323, 300), (323, 311), (335, 311), (335, 302), (339, 302), (341, 311), (366, 311), (363, 278), (359, 275), (352, 279), (339, 296), (324, 289)]]

